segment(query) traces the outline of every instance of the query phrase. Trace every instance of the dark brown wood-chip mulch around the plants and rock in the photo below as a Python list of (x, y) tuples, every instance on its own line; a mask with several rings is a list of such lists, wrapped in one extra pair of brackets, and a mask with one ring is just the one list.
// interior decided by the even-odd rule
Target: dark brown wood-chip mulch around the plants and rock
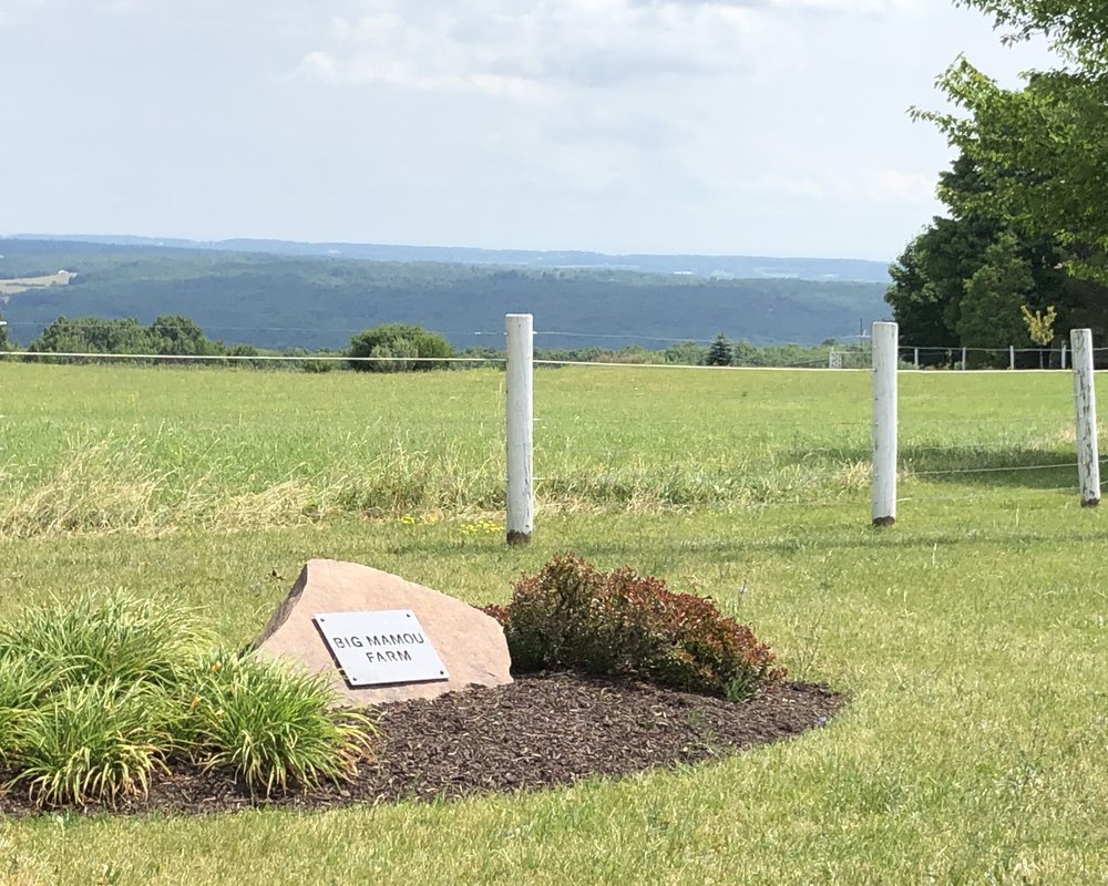
[[(110, 811), (320, 810), (555, 787), (594, 775), (696, 763), (791, 738), (822, 727), (844, 701), (818, 683), (781, 683), (731, 704), (629, 680), (525, 676), (494, 689), (381, 708), (377, 760), (362, 764), (355, 782), (266, 800), (250, 796), (226, 773), (178, 766), (170, 775), (155, 774), (148, 796), (125, 799)], [(38, 812), (25, 792), (0, 792), (0, 814)]]

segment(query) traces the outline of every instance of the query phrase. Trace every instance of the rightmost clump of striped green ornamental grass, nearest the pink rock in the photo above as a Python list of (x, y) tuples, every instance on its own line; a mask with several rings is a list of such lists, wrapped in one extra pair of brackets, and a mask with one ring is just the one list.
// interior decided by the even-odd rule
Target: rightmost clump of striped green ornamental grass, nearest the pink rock
[(250, 790), (268, 795), (290, 782), (348, 780), (369, 751), (368, 718), (335, 710), (335, 692), (322, 677), (228, 653), (195, 678), (178, 724), (181, 743), (201, 765), (227, 766)]

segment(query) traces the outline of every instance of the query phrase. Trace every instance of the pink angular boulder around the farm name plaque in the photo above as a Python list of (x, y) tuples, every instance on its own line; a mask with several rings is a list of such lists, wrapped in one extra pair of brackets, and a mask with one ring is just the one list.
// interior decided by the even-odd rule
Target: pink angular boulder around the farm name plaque
[[(326, 612), (411, 609), (442, 659), (448, 680), (351, 688), (312, 617)], [(471, 686), (512, 682), (504, 630), (480, 609), (400, 576), (340, 560), (309, 560), (285, 601), (254, 642), (258, 653), (325, 673), (350, 704), (433, 699)]]

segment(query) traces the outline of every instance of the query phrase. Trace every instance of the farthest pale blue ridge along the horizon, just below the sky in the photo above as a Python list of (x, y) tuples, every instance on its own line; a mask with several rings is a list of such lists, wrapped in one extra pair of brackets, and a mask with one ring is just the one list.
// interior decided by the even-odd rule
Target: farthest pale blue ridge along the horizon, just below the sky
[(18, 239), (80, 240), (115, 246), (172, 249), (215, 249), (281, 256), (321, 256), (371, 261), (437, 261), (448, 265), (504, 265), (533, 269), (599, 268), (644, 274), (678, 274), (741, 279), (841, 280), (888, 284), (889, 265), (853, 258), (772, 258), (767, 256), (605, 255), (574, 250), (471, 249), (454, 246), (388, 246), (358, 243), (297, 243), (294, 240), (182, 240), (111, 235), (17, 235)]

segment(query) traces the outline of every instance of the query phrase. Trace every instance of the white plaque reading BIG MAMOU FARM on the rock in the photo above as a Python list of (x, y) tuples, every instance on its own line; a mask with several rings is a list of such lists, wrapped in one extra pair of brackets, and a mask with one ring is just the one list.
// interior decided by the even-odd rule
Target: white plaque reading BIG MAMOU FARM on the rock
[(351, 687), (450, 678), (411, 609), (320, 612), (314, 620)]

